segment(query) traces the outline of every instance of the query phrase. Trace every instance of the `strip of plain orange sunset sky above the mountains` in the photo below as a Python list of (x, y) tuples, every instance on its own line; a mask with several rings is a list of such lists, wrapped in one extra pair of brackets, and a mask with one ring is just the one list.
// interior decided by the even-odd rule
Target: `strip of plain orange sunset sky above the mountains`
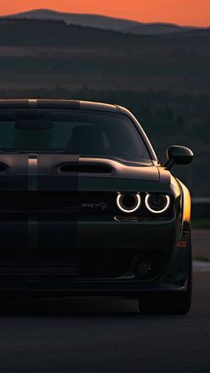
[(34, 8), (210, 26), (210, 0), (0, 0), (1, 15)]

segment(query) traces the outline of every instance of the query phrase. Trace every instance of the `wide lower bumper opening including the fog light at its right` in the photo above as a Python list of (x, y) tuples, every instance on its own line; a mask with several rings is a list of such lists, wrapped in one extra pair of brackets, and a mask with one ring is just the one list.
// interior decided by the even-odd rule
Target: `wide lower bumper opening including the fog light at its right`
[(133, 276), (153, 280), (166, 257), (159, 250), (79, 250), (68, 257), (12, 257), (0, 259), (0, 288), (19, 283), (68, 283), (80, 279), (117, 279)]

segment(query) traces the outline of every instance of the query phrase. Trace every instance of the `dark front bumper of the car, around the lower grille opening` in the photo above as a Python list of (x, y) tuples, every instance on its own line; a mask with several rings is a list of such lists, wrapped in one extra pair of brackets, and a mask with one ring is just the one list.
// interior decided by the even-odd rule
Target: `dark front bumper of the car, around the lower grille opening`
[[(25, 225), (23, 225), (25, 224)], [(23, 235), (23, 227), (26, 236)], [(12, 231), (12, 235), (9, 232)], [(164, 261), (156, 276), (149, 279), (141, 278), (136, 272), (136, 263), (132, 260), (127, 264), (127, 271), (113, 278), (110, 273), (100, 277), (85, 278), (71, 276), (48, 279), (24, 275), (20, 266), (20, 276), (1, 278), (0, 291), (11, 296), (24, 295), (61, 295), (61, 296), (138, 296), (141, 292), (184, 291), (187, 286), (190, 268), (190, 245), (177, 247), (180, 239), (189, 240), (188, 232), (180, 231), (179, 218), (171, 221), (28, 221), (2, 222), (0, 224), (2, 243), (0, 247), (1, 263), (17, 260), (19, 263), (54, 260), (65, 258), (71, 260), (72, 255), (82, 252), (106, 252), (107, 255), (123, 256), (131, 252), (135, 257), (149, 253), (163, 253)], [(25, 237), (25, 242), (24, 242)], [(13, 240), (15, 238), (15, 242)], [(20, 245), (21, 244), (21, 245)], [(82, 251), (81, 251), (82, 250)], [(136, 256), (137, 255), (137, 256)], [(46, 262), (44, 262), (46, 263)], [(54, 265), (54, 264), (53, 264)], [(86, 264), (88, 265), (88, 264)], [(21, 277), (21, 269), (22, 274)], [(11, 274), (11, 271), (10, 271)], [(52, 272), (51, 272), (52, 274)], [(51, 276), (52, 277), (52, 276)]]

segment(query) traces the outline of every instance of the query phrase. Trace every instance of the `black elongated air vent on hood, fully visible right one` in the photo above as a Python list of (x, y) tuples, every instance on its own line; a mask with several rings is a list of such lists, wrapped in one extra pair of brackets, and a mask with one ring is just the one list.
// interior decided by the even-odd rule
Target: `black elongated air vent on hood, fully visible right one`
[(60, 166), (63, 173), (110, 174), (112, 168), (107, 165), (65, 163)]

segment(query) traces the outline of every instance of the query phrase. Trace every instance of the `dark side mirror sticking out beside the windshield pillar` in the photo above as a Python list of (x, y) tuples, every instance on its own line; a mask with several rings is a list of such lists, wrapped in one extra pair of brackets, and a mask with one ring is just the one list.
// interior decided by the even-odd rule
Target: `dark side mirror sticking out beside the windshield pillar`
[(174, 165), (189, 165), (193, 159), (193, 152), (184, 146), (172, 145), (166, 151), (164, 166), (170, 170)]

